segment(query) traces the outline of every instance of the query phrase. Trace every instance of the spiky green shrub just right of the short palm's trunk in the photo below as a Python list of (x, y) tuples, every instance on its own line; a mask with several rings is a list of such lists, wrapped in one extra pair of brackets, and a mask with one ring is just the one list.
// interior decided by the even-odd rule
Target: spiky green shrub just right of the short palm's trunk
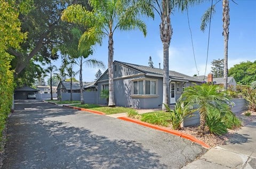
[(220, 136), (228, 132), (227, 126), (225, 125), (225, 123), (222, 122), (218, 109), (211, 108), (207, 112), (205, 124), (209, 128), (210, 133)]

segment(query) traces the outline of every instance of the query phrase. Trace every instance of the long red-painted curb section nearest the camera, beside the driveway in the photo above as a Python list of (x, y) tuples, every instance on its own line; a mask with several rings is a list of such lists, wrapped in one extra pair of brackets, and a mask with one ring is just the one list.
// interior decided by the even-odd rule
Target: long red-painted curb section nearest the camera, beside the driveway
[(199, 145), (203, 146), (204, 148), (207, 148), (207, 149), (210, 148), (210, 146), (206, 145), (206, 143), (204, 143), (201, 140), (196, 139), (193, 136), (190, 136), (189, 134), (185, 134), (185, 133), (182, 133), (182, 132), (179, 132), (179, 131), (175, 131), (175, 130), (171, 130), (171, 129), (166, 129), (166, 128), (163, 128), (163, 127), (158, 126), (158, 125), (145, 123), (145, 122), (142, 122), (140, 120), (131, 119), (129, 117), (117, 117), (117, 119), (124, 120), (124, 121), (129, 121), (129, 122), (132, 122), (132, 123), (136, 123), (136, 124), (140, 124), (140, 125), (146, 126), (148, 128), (152, 128), (152, 129), (164, 131), (164, 132), (167, 132), (167, 133), (171, 133), (171, 134), (173, 134), (175, 136), (179, 136), (179, 137), (182, 137), (184, 139), (196, 142)]

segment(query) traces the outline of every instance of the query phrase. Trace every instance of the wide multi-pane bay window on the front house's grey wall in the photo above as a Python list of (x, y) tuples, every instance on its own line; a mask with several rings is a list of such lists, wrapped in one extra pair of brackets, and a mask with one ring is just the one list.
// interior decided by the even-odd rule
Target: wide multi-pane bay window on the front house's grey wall
[(156, 95), (156, 80), (133, 81), (133, 95)]

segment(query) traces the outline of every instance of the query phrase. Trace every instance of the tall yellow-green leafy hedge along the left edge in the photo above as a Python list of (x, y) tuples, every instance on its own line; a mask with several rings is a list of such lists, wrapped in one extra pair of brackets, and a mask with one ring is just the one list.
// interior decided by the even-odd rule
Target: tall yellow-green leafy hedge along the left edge
[(6, 119), (11, 111), (14, 81), (11, 61), (13, 56), (6, 50), (10, 47), (19, 49), (20, 43), (26, 38), (21, 32), (19, 12), (14, 1), (0, 0), (0, 140)]

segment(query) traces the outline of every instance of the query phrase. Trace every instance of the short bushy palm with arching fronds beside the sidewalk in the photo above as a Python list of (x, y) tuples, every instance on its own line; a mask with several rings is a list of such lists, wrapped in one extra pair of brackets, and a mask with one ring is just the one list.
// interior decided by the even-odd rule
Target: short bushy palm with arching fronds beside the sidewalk
[(222, 111), (228, 109), (228, 97), (225, 92), (220, 92), (217, 85), (196, 85), (185, 89), (180, 98), (183, 102), (190, 104), (200, 114), (200, 126), (198, 134), (204, 134), (206, 115), (209, 109), (218, 108)]

